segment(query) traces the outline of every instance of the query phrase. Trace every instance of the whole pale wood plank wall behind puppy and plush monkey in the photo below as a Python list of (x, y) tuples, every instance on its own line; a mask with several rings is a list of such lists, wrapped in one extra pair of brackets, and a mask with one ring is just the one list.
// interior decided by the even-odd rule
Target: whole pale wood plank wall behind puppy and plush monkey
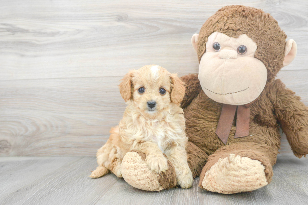
[(306, 0), (0, 1), (0, 156), (95, 156), (122, 117), (124, 74), (197, 73), (190, 38), (230, 4), (271, 13), (297, 42), (278, 78), (308, 105)]

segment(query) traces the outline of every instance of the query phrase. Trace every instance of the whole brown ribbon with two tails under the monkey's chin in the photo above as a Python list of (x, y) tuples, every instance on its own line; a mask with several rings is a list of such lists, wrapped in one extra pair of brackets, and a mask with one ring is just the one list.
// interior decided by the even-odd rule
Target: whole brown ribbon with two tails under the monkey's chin
[(250, 117), (250, 105), (256, 100), (245, 105), (227, 105), (223, 104), (221, 114), (219, 117), (216, 135), (223, 141), (224, 144), (227, 143), (228, 137), (231, 131), (233, 119), (236, 113), (236, 131), (234, 138), (245, 137), (249, 135), (249, 117)]

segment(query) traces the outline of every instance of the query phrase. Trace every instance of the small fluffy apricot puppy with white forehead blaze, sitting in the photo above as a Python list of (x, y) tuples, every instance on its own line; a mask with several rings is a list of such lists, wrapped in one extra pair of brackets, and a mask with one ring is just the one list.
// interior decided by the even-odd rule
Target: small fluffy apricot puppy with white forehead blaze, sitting
[(168, 169), (168, 157), (175, 167), (177, 182), (182, 188), (192, 185), (185, 146), (185, 119), (182, 108), (185, 87), (176, 74), (158, 65), (131, 70), (119, 85), (127, 102), (122, 120), (112, 128), (107, 143), (97, 151), (98, 167), (92, 178), (109, 171), (122, 177), (121, 162), (131, 150), (145, 153), (145, 163), (157, 172)]

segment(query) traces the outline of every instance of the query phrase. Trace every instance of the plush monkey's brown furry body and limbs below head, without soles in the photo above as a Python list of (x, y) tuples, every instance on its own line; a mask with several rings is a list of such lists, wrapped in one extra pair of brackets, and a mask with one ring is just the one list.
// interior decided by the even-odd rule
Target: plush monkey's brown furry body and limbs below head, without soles
[[(281, 80), (276, 79), (267, 84), (258, 100), (250, 106), (251, 136), (234, 139), (234, 119), (227, 145), (215, 134), (222, 104), (209, 99), (201, 88), (196, 89), (200, 87), (195, 87), (199, 81), (197, 74), (183, 76), (182, 80), (187, 83), (187, 94), (189, 90), (192, 91), (190, 98), (187, 98), (188, 101), (183, 102), (186, 133), (189, 141), (200, 149), (189, 152), (190, 146), (187, 148), (188, 161), (194, 177), (200, 174), (200, 167), (205, 163), (199, 159), (200, 156), (207, 160), (200, 182), (204, 177), (202, 174), (204, 175), (219, 158), (224, 158), (230, 153), (261, 161), (265, 166), (267, 181), (270, 182), (272, 166), (276, 163), (280, 148), (280, 126), (295, 156), (301, 158), (308, 153), (307, 107), (294, 92), (285, 88)], [(190, 86), (193, 88), (190, 89)], [(187, 105), (189, 101), (191, 102)], [(194, 154), (195, 152), (198, 154)]]

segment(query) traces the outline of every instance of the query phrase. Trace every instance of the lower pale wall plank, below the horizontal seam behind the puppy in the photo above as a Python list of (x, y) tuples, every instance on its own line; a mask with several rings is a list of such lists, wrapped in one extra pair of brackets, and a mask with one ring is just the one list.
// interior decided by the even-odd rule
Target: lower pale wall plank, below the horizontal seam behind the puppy
[[(308, 70), (278, 77), (308, 105)], [(95, 156), (126, 106), (119, 79), (0, 81), (0, 156)]]

